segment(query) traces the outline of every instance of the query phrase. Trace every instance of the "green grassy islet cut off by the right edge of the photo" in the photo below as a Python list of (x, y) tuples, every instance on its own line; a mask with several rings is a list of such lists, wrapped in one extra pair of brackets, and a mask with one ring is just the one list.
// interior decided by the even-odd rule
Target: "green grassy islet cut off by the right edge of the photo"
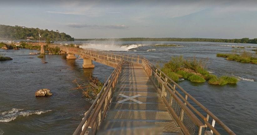
[[(256, 54), (256, 53), (255, 53)], [(217, 57), (224, 57), (226, 60), (235, 60), (241, 63), (252, 63), (257, 64), (257, 56), (249, 51), (232, 50), (232, 53), (222, 54), (218, 53)]]

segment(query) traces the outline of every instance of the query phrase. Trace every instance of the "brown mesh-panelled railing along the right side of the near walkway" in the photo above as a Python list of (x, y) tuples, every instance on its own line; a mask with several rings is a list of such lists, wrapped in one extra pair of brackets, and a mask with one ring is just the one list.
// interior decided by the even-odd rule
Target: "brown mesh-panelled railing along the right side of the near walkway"
[[(225, 134), (235, 135), (219, 118), (146, 58), (143, 60), (143, 67), (151, 77), (161, 98), (185, 134), (201, 135), (204, 131), (210, 131), (212, 134), (220, 135), (221, 133), (217, 131), (217, 128), (219, 128)], [(216, 124), (218, 127), (215, 127), (215, 122), (219, 124)]]

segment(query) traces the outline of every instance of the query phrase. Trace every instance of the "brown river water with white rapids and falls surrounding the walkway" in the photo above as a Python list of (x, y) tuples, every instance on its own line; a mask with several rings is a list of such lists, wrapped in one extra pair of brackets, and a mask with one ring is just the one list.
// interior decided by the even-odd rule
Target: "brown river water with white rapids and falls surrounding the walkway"
[[(67, 42), (65, 42), (67, 43)], [(231, 46), (254, 44), (209, 42), (103, 42), (75, 41), (81, 47), (113, 50), (144, 55), (153, 63), (167, 62), (171, 56), (209, 58), (208, 70), (215, 75), (234, 75), (241, 80), (234, 85), (209, 85), (180, 81), (189, 94), (213, 112), (238, 135), (257, 133), (257, 65), (239, 63), (216, 57), (229, 53)], [(179, 47), (149, 46), (176, 44)], [(245, 48), (250, 51), (253, 48)], [(0, 135), (11, 134), (72, 134), (90, 103), (82, 98), (81, 90), (72, 83), (86, 82), (90, 75), (104, 81), (113, 68), (94, 62), (94, 69), (82, 69), (83, 60), (66, 60), (65, 55), (28, 55), (31, 50), (2, 50), (13, 58), (0, 62)], [(35, 52), (35, 51), (34, 51)], [(43, 63), (47, 61), (48, 63)], [(48, 88), (48, 97), (35, 97), (37, 89)]]

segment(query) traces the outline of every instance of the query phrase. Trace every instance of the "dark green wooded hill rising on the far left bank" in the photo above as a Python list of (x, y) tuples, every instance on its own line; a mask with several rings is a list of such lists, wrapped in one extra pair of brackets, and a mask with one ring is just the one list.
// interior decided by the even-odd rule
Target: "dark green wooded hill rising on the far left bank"
[(33, 37), (33, 40), (38, 40), (38, 32), (41, 38), (50, 41), (74, 41), (74, 38), (65, 33), (56, 31), (48, 31), (47, 29), (26, 28), (21, 26), (0, 25), (0, 38), (10, 40), (26, 39), (26, 37)]

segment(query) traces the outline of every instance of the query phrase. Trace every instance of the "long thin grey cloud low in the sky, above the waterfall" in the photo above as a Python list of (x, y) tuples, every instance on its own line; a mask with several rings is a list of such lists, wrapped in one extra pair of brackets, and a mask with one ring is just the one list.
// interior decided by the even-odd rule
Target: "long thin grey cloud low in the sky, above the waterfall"
[(127, 29), (127, 25), (87, 25), (87, 24), (68, 24), (71, 28), (94, 28), (94, 29)]

